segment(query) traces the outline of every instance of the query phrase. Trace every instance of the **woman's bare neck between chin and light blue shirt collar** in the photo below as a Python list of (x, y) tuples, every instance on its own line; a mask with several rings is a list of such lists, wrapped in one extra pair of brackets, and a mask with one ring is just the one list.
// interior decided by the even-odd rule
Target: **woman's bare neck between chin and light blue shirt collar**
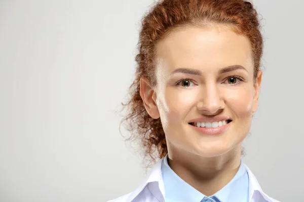
[(213, 195), (236, 175), (241, 161), (241, 145), (218, 157), (199, 155), (168, 149), (170, 168), (185, 182), (206, 196)]

